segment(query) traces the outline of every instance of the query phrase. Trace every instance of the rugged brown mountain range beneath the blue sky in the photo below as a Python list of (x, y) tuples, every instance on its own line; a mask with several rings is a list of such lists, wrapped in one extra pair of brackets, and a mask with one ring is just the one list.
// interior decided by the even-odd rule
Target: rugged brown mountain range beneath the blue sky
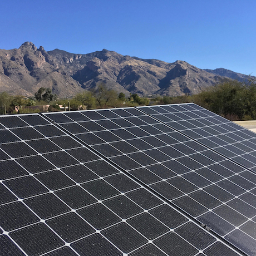
[(114, 51), (73, 54), (45, 51), (32, 42), (18, 49), (0, 50), (0, 92), (33, 96), (40, 87), (59, 97), (71, 97), (100, 83), (125, 95), (179, 96), (199, 93), (223, 77), (247, 76), (225, 68), (202, 70), (185, 61), (167, 63), (123, 56)]

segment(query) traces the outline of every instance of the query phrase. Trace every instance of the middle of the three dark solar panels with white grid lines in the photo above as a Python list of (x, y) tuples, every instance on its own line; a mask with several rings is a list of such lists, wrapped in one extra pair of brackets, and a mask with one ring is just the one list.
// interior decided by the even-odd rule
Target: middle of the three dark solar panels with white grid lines
[[(182, 118), (183, 121), (193, 119), (199, 122), (195, 117), (204, 119), (200, 116), (209, 114), (209, 111), (192, 104), (186, 105), (186, 109), (184, 105), (174, 106), (142, 107), (144, 112), (132, 108), (104, 110), (102, 116), (109, 116), (104, 119), (108, 122), (107, 127), (98, 121), (103, 119), (102, 110), (97, 110), (97, 115), (88, 114), (95, 111), (80, 111), (90, 118), (82, 122), (88, 131), (73, 135), (191, 218), (207, 225), (243, 252), (254, 255), (255, 235), (239, 229), (242, 235), (238, 239), (237, 229), (252, 218), (245, 214), (244, 209), (250, 209), (251, 214), (256, 215), (255, 205), (245, 200), (248, 196), (255, 198), (256, 176), (246, 170), (246, 166), (243, 168), (229, 157), (211, 150), (208, 145), (196, 142), (195, 137), (189, 137), (183, 130), (174, 130), (177, 127), (171, 127), (169, 122), (166, 125), (163, 120), (166, 121), (168, 116), (170, 121), (174, 115), (170, 110), (177, 114), (175, 119)], [(150, 116), (145, 114), (147, 111)], [(194, 112), (198, 111), (200, 113), (196, 115)], [(109, 114), (106, 115), (107, 112)], [(62, 114), (46, 114), (54, 121), (57, 121), (56, 115)], [(223, 129), (219, 126), (222, 118), (215, 115), (214, 120), (217, 120), (215, 126)], [(101, 128), (88, 129), (93, 123)], [(175, 123), (178, 124), (177, 121)], [(81, 125), (81, 122), (76, 124)], [(203, 123), (199, 127), (204, 127)], [(67, 129), (67, 132), (71, 131)], [(85, 137), (90, 137), (90, 141), (83, 140)], [(247, 244), (247, 241), (250, 243)], [(244, 249), (245, 244), (249, 249)]]

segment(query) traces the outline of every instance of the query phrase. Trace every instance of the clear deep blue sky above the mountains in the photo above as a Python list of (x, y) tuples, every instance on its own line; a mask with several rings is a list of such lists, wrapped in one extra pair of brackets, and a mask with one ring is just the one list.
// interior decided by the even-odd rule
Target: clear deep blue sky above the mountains
[(256, 76), (256, 0), (6, 0), (0, 48), (107, 49)]

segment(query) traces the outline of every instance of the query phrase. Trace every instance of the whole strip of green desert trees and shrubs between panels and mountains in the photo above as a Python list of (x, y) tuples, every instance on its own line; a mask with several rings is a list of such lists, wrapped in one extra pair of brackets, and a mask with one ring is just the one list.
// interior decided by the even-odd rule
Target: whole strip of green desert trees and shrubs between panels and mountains
[(36, 107), (50, 105), (48, 111), (60, 111), (58, 105), (70, 106), (71, 110), (104, 109), (110, 107), (129, 107), (158, 104), (178, 104), (194, 102), (199, 106), (215, 112), (229, 120), (256, 119), (256, 81), (254, 78), (244, 81), (226, 79), (210, 86), (196, 95), (140, 97), (136, 93), (126, 96), (123, 92), (107, 88), (101, 83), (89, 91), (77, 93), (71, 99), (57, 99), (50, 88), (40, 88), (35, 97), (25, 98), (0, 93), (0, 114), (6, 106), (8, 114), (40, 112)]

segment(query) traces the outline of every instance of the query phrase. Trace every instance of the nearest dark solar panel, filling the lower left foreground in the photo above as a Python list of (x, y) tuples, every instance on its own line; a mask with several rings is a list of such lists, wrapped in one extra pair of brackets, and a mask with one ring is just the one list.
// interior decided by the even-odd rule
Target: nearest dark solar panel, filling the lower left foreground
[[(8, 134), (0, 144), (0, 255), (212, 255), (218, 250), (240, 255), (189, 214), (153, 192), (151, 185), (157, 182), (173, 186), (162, 180), (161, 172), (162, 176), (167, 174), (157, 168), (158, 160), (136, 147), (140, 141), (150, 149), (154, 146), (135, 136), (129, 140), (140, 141), (133, 141), (132, 152), (124, 154), (121, 149), (125, 145), (115, 147), (114, 142), (125, 140), (118, 134), (109, 136), (111, 130), (96, 122), (116, 116), (122, 120), (119, 114), (125, 112), (120, 109), (49, 115), (61, 125), (39, 114), (0, 117), (2, 130)], [(136, 117), (139, 115), (140, 111), (130, 110), (124, 116), (140, 122)], [(130, 121), (131, 127), (137, 127)], [(86, 129), (86, 122), (88, 127), (97, 124), (102, 129), (72, 134), (67, 129), (71, 126), (62, 126), (76, 124)], [(125, 129), (119, 126), (117, 130)], [(98, 136), (102, 131), (107, 131), (106, 136)], [(86, 134), (100, 140), (91, 137), (90, 146), (86, 146), (80, 139)], [(95, 145), (111, 145), (118, 154), (108, 161), (93, 148)], [(129, 173), (115, 161), (127, 166)], [(130, 170), (132, 163), (136, 168)], [(165, 169), (168, 176), (177, 176), (168, 167)], [(151, 176), (142, 183), (140, 176), (145, 174)], [(245, 223), (241, 232), (252, 230)]]

